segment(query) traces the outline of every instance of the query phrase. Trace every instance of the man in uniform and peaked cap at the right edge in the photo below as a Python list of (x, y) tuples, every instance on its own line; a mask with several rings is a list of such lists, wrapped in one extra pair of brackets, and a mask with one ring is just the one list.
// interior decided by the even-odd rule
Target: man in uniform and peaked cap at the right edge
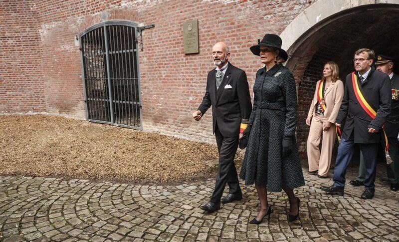
[[(387, 165), (388, 180), (391, 183), (391, 190), (399, 190), (399, 75), (393, 72), (394, 58), (386, 55), (377, 55), (376, 69), (384, 72), (391, 79), (392, 88), (392, 106), (391, 114), (387, 117), (385, 123), (385, 131), (390, 145), (389, 154), (392, 158), (392, 163)], [(351, 181), (353, 186), (361, 186), (366, 177), (366, 167), (363, 156), (360, 159), (359, 176), (356, 180)]]

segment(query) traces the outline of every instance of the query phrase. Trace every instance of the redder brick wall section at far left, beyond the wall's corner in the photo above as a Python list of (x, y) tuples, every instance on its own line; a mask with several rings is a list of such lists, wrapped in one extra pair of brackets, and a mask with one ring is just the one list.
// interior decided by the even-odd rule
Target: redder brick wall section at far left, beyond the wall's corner
[(33, 1), (0, 2), (0, 113), (45, 111), (37, 17)]

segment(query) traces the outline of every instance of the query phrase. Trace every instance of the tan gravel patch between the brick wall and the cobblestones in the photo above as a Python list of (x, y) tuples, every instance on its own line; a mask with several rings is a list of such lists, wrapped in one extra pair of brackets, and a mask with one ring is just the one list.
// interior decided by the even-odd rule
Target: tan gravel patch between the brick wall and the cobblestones
[(55, 116), (1, 115), (0, 135), (0, 175), (177, 182), (214, 176), (218, 158), (215, 145)]

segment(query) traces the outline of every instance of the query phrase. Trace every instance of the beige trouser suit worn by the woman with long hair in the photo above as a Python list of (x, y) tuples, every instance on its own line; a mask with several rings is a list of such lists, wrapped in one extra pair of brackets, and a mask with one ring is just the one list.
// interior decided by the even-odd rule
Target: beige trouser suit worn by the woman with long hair
[[(319, 170), (320, 176), (327, 176), (331, 164), (332, 151), (335, 144), (335, 119), (344, 97), (344, 84), (341, 80), (331, 83), (324, 91), (324, 101), (326, 110), (324, 115), (315, 113), (317, 101), (317, 87), (320, 81), (316, 83), (316, 91), (310, 105), (308, 117), (312, 117), (307, 142), (309, 172)], [(330, 122), (331, 126), (327, 131), (323, 131), (323, 123)], [(323, 134), (323, 135), (322, 135)], [(319, 144), (323, 136), (321, 152)]]

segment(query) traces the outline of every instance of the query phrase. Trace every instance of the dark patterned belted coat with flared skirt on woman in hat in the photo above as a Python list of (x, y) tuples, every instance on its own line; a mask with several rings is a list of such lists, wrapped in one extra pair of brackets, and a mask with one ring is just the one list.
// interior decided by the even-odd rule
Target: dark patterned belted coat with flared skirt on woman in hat
[[(259, 69), (253, 85), (253, 108), (240, 178), (245, 184), (267, 185), (270, 192), (305, 185), (295, 140), (297, 98), (295, 80), (284, 66)], [(291, 137), (293, 151), (282, 155), (283, 137)]]

